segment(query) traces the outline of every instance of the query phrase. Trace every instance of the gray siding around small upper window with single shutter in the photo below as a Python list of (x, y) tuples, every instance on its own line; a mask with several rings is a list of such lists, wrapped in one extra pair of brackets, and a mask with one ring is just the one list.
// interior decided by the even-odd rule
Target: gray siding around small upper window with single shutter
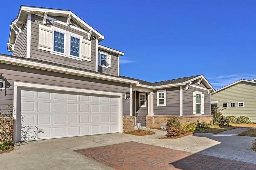
[[(103, 51), (103, 50), (100, 50)], [(111, 67), (106, 68), (102, 66), (98, 66), (98, 72), (105, 73), (109, 75), (118, 75), (118, 56), (109, 52), (106, 52), (111, 55)]]

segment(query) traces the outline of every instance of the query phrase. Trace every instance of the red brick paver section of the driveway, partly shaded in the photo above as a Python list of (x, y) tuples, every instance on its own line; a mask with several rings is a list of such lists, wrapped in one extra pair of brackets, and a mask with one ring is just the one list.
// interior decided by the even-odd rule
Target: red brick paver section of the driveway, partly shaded
[(118, 170), (256, 170), (256, 164), (126, 142), (76, 152)]

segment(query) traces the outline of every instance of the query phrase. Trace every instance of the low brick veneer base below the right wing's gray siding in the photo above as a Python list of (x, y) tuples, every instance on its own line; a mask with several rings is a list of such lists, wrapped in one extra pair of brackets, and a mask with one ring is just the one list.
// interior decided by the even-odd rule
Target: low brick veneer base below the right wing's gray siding
[(212, 122), (212, 115), (200, 115), (200, 116), (146, 116), (146, 127), (147, 128), (160, 128), (162, 125), (166, 125), (167, 119), (169, 118), (179, 118), (181, 123), (196, 123), (197, 120), (200, 122)]

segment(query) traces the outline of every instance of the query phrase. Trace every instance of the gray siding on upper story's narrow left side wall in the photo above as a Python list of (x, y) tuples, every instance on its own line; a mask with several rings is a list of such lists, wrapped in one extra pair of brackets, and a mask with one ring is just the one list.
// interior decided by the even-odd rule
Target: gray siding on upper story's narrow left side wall
[(21, 33), (16, 36), (14, 44), (14, 56), (27, 57), (27, 21), (21, 27)]

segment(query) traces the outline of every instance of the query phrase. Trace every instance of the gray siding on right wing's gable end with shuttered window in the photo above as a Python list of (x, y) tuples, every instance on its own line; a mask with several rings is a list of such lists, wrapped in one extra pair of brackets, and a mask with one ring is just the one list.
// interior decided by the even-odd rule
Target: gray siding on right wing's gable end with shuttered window
[[(198, 80), (193, 81), (192, 85), (206, 88), (203, 83), (198, 85)], [(193, 92), (195, 91), (204, 94), (204, 115), (211, 115), (211, 95), (208, 95), (208, 91), (192, 86), (186, 90), (186, 86), (183, 86), (183, 116), (193, 115)]]

